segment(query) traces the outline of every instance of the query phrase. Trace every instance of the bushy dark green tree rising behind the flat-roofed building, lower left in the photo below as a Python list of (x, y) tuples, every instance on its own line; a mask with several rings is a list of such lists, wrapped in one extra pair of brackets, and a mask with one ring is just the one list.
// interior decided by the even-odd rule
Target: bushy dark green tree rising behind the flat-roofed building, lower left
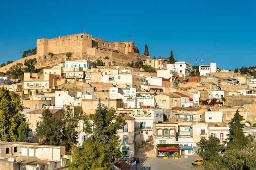
[(40, 121), (36, 122), (36, 133), (44, 145), (59, 145), (61, 142), (61, 118), (57, 118), (49, 109), (42, 112)]

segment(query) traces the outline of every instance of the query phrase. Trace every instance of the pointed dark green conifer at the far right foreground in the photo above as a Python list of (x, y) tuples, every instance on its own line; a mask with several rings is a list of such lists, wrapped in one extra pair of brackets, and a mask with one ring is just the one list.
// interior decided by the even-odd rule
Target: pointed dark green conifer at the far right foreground
[(227, 147), (229, 149), (241, 150), (248, 144), (249, 139), (245, 136), (243, 129), (245, 124), (241, 122), (245, 120), (243, 116), (240, 116), (238, 109), (234, 115), (234, 118), (229, 122), (229, 133), (227, 134)]

